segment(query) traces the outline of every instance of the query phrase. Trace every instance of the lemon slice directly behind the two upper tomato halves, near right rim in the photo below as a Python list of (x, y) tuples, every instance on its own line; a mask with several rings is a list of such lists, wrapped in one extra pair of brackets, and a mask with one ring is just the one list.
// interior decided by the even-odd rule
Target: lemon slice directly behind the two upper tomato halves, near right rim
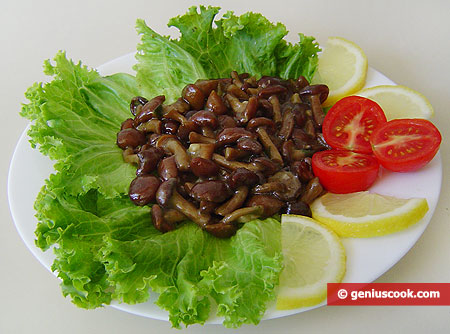
[(433, 107), (425, 96), (405, 86), (375, 86), (355, 95), (367, 97), (378, 103), (388, 120), (396, 118), (425, 118), (434, 115)]

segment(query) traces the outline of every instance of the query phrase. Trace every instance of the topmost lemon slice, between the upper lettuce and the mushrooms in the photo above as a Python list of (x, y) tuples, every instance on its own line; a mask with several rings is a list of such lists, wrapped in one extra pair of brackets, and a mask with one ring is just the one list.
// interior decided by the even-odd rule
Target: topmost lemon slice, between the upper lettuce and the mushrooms
[(324, 107), (362, 89), (366, 83), (367, 57), (353, 42), (329, 37), (312, 79), (313, 84), (326, 84), (330, 89)]

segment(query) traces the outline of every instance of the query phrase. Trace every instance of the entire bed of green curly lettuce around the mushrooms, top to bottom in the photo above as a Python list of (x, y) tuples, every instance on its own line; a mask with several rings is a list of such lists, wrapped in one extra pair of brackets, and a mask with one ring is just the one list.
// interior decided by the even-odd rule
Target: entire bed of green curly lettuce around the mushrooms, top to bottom
[(300, 34), (291, 44), (280, 23), (255, 13), (215, 20), (218, 11), (193, 7), (170, 20), (178, 39), (138, 20), (136, 76), (102, 77), (60, 52), (54, 64), (45, 63), (52, 81), (26, 93), (21, 115), (32, 121), (31, 144), (55, 160), (56, 170), (35, 202), (36, 245), (53, 248), (63, 294), (80, 307), (141, 303), (157, 293), (175, 327), (204, 323), (215, 313), (225, 326), (238, 327), (257, 324), (275, 298), (282, 269), (277, 220), (246, 223), (227, 240), (192, 222), (161, 234), (150, 208), (129, 200), (135, 168), (116, 145), (134, 96), (164, 94), (171, 102), (186, 84), (232, 70), (312, 77), (319, 50), (312, 37)]

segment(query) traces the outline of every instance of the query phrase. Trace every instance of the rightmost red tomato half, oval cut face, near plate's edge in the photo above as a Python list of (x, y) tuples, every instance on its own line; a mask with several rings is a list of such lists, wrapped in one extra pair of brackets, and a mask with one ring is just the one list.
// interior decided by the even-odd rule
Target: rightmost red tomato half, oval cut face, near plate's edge
[(395, 119), (370, 136), (373, 153), (380, 164), (394, 172), (409, 172), (433, 159), (441, 144), (439, 130), (425, 119)]

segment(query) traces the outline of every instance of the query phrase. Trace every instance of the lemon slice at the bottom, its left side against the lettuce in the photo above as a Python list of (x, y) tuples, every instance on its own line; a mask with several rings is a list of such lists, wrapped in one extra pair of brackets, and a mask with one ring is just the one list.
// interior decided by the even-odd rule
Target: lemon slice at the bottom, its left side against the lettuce
[(327, 296), (327, 283), (345, 274), (345, 249), (327, 227), (305, 216), (281, 216), (284, 269), (280, 275), (277, 309), (313, 306)]

